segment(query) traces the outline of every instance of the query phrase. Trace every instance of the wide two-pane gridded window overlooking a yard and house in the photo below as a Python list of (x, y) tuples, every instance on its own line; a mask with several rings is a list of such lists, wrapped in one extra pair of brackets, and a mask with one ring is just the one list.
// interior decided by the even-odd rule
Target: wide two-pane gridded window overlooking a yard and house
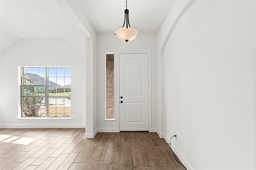
[(71, 68), (22, 67), (21, 117), (71, 117)]

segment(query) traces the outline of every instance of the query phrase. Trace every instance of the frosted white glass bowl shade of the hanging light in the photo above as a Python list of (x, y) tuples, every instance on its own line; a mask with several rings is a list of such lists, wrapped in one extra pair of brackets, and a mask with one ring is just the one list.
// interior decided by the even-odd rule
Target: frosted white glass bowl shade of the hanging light
[(116, 36), (124, 42), (134, 40), (138, 35), (138, 31), (132, 27), (120, 27), (116, 29)]

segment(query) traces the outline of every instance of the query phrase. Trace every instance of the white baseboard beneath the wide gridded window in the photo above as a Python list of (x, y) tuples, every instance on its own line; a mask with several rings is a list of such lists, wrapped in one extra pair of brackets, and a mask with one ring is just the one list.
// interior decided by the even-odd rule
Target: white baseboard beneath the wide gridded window
[(85, 128), (85, 124), (2, 124), (0, 125), (0, 128)]

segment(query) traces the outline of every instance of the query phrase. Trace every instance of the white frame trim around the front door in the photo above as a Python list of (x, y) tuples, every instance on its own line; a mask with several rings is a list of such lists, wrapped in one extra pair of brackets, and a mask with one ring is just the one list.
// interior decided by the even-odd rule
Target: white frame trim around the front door
[(116, 69), (114, 69), (114, 77), (115, 77), (115, 88), (114, 92), (115, 94), (115, 106), (118, 106), (118, 108), (115, 107), (115, 113), (118, 113), (118, 132), (120, 132), (120, 83), (119, 83), (119, 76), (120, 76), (120, 70), (119, 70), (119, 56), (120, 54), (148, 54), (148, 100), (149, 100), (149, 104), (148, 104), (148, 121), (149, 121), (149, 127), (148, 127), (148, 131), (152, 132), (151, 128), (152, 128), (152, 121), (151, 121), (151, 52), (117, 52), (117, 57), (114, 57), (114, 59), (116, 59), (116, 64), (115, 67)]

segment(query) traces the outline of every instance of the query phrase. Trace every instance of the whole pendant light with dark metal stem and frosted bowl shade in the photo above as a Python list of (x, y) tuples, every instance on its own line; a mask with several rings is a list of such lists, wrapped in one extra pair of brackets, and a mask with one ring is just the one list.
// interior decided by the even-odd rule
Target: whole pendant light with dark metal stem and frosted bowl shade
[[(116, 37), (121, 41), (132, 41), (134, 40), (137, 35), (138, 31), (135, 28), (132, 28), (129, 23), (129, 10), (127, 9), (127, 0), (126, 0), (126, 10), (124, 10), (124, 24), (126, 22), (126, 27), (120, 27), (116, 29)], [(129, 25), (129, 27), (128, 27)]]

